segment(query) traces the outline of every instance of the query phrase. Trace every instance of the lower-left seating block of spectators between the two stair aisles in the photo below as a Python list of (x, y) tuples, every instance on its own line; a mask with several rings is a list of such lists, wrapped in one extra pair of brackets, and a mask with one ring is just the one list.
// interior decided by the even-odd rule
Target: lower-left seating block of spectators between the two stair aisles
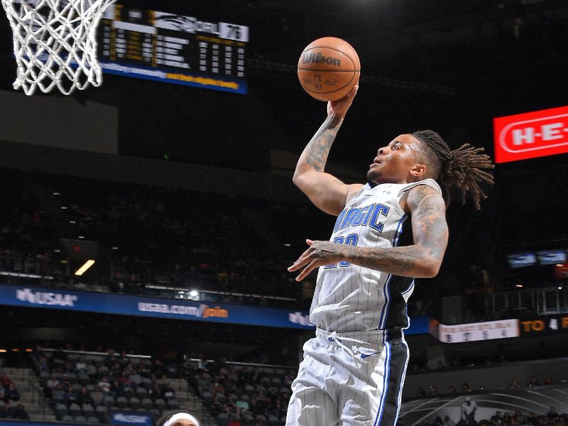
[(180, 406), (167, 380), (175, 369), (160, 360), (111, 349), (106, 356), (81, 356), (38, 348), (33, 364), (58, 420), (108, 423), (111, 410), (145, 410), (157, 418)]

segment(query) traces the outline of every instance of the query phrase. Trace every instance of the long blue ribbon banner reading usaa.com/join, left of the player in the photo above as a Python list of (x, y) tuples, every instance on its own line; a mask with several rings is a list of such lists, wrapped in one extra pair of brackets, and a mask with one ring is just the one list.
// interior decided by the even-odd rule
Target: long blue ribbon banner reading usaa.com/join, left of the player
[(307, 319), (307, 312), (292, 312), (280, 308), (223, 303), (209, 305), (207, 302), (192, 300), (111, 295), (15, 285), (0, 285), (0, 304), (226, 324), (314, 328)]

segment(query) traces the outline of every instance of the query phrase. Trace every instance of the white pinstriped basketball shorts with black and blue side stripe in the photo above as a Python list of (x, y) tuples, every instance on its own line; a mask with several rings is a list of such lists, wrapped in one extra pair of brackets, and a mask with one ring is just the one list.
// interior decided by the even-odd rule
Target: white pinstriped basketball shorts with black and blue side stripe
[(395, 426), (409, 356), (402, 331), (317, 329), (303, 349), (286, 426)]

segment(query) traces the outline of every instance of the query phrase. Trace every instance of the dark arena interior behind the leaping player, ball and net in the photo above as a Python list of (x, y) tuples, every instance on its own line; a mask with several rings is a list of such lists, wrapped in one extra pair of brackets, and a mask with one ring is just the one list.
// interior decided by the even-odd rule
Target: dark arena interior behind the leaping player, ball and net
[[(345, 182), (421, 129), (536, 153), (496, 164), (479, 211), (452, 194), (442, 268), (408, 304), (399, 424), (567, 424), (566, 0), (114, 8), (104, 82), (70, 96), (12, 88), (0, 18), (0, 424), (284, 424), (315, 286), (286, 268), (334, 224), (292, 183), (326, 116), (297, 59), (324, 36), (361, 59), (327, 167)], [(148, 11), (195, 31), (158, 55)]]

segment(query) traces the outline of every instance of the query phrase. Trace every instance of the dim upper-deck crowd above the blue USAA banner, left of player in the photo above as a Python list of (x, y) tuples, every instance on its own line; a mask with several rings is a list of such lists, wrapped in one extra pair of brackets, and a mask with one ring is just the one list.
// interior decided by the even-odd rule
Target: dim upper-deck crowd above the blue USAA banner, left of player
[[(332, 225), (296, 223), (278, 202), (15, 170), (0, 176), (11, 182), (0, 191), (10, 206), (0, 212), (0, 268), (65, 281), (72, 271), (60, 239), (96, 241), (104, 271), (85, 280), (116, 291), (161, 284), (294, 298), (301, 289), (286, 267), (303, 245), (291, 253), (285, 244), (303, 243), (308, 225), (311, 236), (327, 238)], [(292, 208), (314, 214), (307, 204)]]

